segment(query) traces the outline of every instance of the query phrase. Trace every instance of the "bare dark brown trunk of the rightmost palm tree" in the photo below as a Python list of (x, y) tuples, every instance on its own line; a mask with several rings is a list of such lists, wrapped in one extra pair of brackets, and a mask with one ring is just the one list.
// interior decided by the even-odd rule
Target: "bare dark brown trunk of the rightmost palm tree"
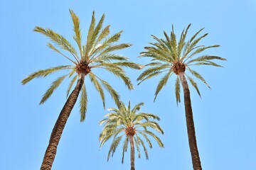
[(184, 104), (185, 104), (185, 112), (186, 112), (186, 125), (188, 131), (188, 143), (192, 157), (192, 164), (194, 170), (201, 170), (201, 161), (198, 153), (198, 147), (196, 145), (196, 131), (193, 123), (193, 112), (191, 107), (191, 97), (188, 89), (188, 82), (186, 81), (186, 77), (184, 72), (179, 72), (178, 76), (181, 79), (181, 84), (183, 87), (184, 93)]

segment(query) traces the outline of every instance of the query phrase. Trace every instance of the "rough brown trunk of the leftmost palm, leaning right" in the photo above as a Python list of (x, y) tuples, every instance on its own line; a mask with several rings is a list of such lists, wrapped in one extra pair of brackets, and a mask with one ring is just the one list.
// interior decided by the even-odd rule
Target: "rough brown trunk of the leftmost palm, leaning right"
[(75, 86), (75, 89), (72, 91), (70, 96), (68, 96), (68, 100), (63, 106), (63, 109), (60, 111), (60, 115), (58, 116), (53, 131), (50, 135), (49, 144), (43, 157), (41, 170), (50, 170), (53, 166), (53, 161), (57, 152), (58, 143), (60, 142), (60, 137), (62, 135), (63, 129), (65, 128), (65, 124), (67, 123), (68, 117), (73, 107), (75, 106), (75, 102), (78, 99), (78, 95), (82, 88), (82, 84), (84, 83), (84, 79), (85, 74), (81, 74), (78, 79), (78, 83)]

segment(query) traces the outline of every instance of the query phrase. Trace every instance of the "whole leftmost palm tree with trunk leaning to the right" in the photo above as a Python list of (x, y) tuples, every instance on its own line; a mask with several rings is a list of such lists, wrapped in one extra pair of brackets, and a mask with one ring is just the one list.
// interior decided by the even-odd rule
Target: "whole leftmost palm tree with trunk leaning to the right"
[[(43, 158), (43, 163), (41, 165), (41, 169), (51, 169), (53, 164), (53, 160), (55, 158), (55, 154), (57, 152), (58, 142), (60, 141), (60, 136), (65, 127), (65, 123), (68, 120), (68, 117), (78, 99), (80, 94), (80, 121), (85, 120), (85, 113), (87, 111), (87, 91), (85, 89), (85, 77), (89, 77), (92, 84), (94, 84), (95, 88), (100, 94), (100, 97), (103, 102), (103, 106), (105, 107), (105, 93), (102, 89), (102, 86), (110, 93), (112, 98), (117, 105), (119, 105), (119, 94), (115, 91), (110, 84), (98, 77), (92, 72), (93, 69), (105, 69), (108, 72), (114, 74), (116, 77), (119, 77), (124, 81), (124, 84), (128, 87), (128, 89), (133, 89), (132, 82), (129, 77), (127, 77), (124, 72), (123, 67), (129, 67), (132, 69), (140, 69), (141, 66), (134, 62), (128, 62), (128, 58), (122, 55), (117, 55), (112, 52), (116, 50), (122, 50), (126, 47), (130, 47), (130, 44), (120, 43), (116, 44), (120, 38), (122, 31), (116, 33), (112, 36), (110, 34), (110, 26), (106, 26), (102, 28), (102, 23), (105, 19), (105, 14), (102, 15), (100, 21), (95, 23), (95, 12), (92, 13), (92, 21), (90, 23), (90, 28), (87, 33), (86, 44), (82, 45), (82, 35), (80, 32), (80, 20), (75, 13), (70, 10), (70, 15), (73, 20), (73, 30), (74, 36), (73, 39), (78, 45), (78, 52), (75, 50), (75, 47), (71, 45), (68, 40), (58, 33), (55, 33), (53, 30), (48, 28), (41, 28), (36, 26), (34, 31), (46, 35), (52, 42), (48, 42), (48, 47), (58, 52), (58, 54), (62, 55), (70, 62), (72, 65), (60, 65), (58, 67), (51, 67), (49, 69), (41, 69), (38, 72), (33, 72), (28, 75), (25, 79), (22, 80), (22, 84), (26, 84), (34, 78), (46, 77), (50, 74), (53, 74), (58, 71), (69, 71), (68, 74), (65, 74), (61, 77), (58, 77), (53, 83), (50, 85), (49, 89), (43, 95), (40, 104), (43, 104), (50, 96), (53, 94), (53, 91), (58, 88), (58, 86), (63, 82), (65, 78), (70, 78), (70, 84), (68, 86), (67, 91), (67, 101), (63, 106), (62, 111), (60, 111), (60, 115), (58, 120), (56, 121), (53, 131), (50, 135), (50, 141), (48, 144), (48, 148), (46, 149), (46, 154)], [(61, 50), (65, 50), (70, 53), (70, 57), (65, 55)], [(75, 85), (75, 89), (70, 94), (70, 89), (72, 89), (75, 81), (77, 80), (77, 84)], [(70, 94), (70, 95), (69, 95)], [(68, 96), (69, 95), (69, 96)]]

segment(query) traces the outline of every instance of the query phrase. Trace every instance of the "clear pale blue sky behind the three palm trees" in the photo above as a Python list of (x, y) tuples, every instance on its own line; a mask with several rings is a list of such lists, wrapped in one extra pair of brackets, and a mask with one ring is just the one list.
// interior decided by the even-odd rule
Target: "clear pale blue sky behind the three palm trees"
[[(120, 42), (132, 47), (119, 51), (133, 62), (146, 64), (149, 60), (137, 56), (152, 42), (151, 34), (162, 38), (163, 30), (170, 32), (174, 25), (179, 35), (192, 23), (188, 36), (205, 27), (209, 33), (204, 45), (220, 45), (208, 50), (211, 55), (225, 57), (223, 68), (197, 67), (196, 71), (208, 81), (208, 89), (198, 81), (200, 98), (191, 89), (196, 136), (203, 169), (250, 170), (256, 169), (256, 111), (255, 111), (255, 39), (256, 2), (244, 1), (1, 1), (1, 118), (0, 169), (39, 169), (48, 145), (50, 132), (65, 103), (68, 81), (55, 91), (48, 101), (39, 106), (44, 92), (58, 77), (35, 79), (26, 86), (21, 79), (38, 69), (46, 69), (68, 60), (46, 47), (47, 38), (33, 32), (35, 26), (52, 28), (74, 43), (69, 8), (80, 17), (83, 38), (87, 34), (92, 11), (97, 21), (106, 14), (105, 26), (111, 33), (124, 30)], [(188, 148), (186, 120), (181, 104), (176, 106), (174, 79), (171, 79), (153, 102), (157, 77), (136, 86), (139, 71), (127, 69), (135, 90), (128, 91), (122, 81), (102, 73), (119, 91), (122, 101), (132, 104), (143, 101), (142, 111), (155, 113), (161, 118), (165, 134), (159, 135), (165, 148), (153, 142), (149, 160), (136, 157), (137, 169), (192, 169)], [(90, 83), (90, 82), (89, 82)], [(122, 148), (107, 162), (110, 142), (99, 149), (98, 136), (102, 127), (98, 122), (107, 113), (97, 91), (87, 86), (88, 110), (84, 123), (80, 123), (78, 105), (70, 115), (58, 145), (53, 169), (130, 169), (129, 152), (121, 163)], [(106, 107), (114, 107), (107, 96)]]

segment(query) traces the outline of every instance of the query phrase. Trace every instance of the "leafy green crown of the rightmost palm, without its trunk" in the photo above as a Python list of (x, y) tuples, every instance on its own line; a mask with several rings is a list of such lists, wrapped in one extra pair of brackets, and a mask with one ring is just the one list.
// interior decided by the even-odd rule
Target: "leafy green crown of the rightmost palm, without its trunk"
[[(178, 74), (188, 70), (188, 72), (190, 72), (194, 77), (203, 81), (203, 83), (205, 83), (210, 88), (210, 86), (207, 84), (206, 80), (203, 79), (201, 74), (191, 69), (191, 67), (194, 65), (212, 65), (215, 67), (222, 67), (212, 61), (225, 60), (222, 57), (213, 55), (197, 56), (204, 50), (208, 48), (219, 47), (219, 45), (198, 45), (198, 42), (200, 42), (201, 39), (205, 38), (208, 35), (208, 33), (206, 33), (198, 37), (198, 34), (201, 33), (203, 28), (186, 41), (186, 35), (190, 26), (191, 24), (189, 24), (188, 27), (182, 31), (179, 40), (176, 40), (174, 26), (172, 27), (170, 36), (167, 35), (167, 33), (164, 31), (165, 39), (156, 38), (156, 36), (151, 35), (152, 38), (156, 40), (156, 42), (150, 42), (149, 44), (151, 46), (144, 47), (146, 51), (140, 53), (140, 57), (151, 57), (152, 62), (146, 64), (146, 66), (149, 66), (149, 68), (144, 70), (144, 72), (142, 72), (142, 74), (140, 74), (140, 76), (138, 77), (137, 80), (140, 81), (139, 84), (146, 79), (155, 77), (159, 74), (166, 72), (166, 74), (164, 74), (164, 77), (161, 78), (158, 86), (156, 87), (154, 100), (156, 100), (156, 96), (159, 94), (159, 91), (161, 91), (161, 89), (166, 85), (169, 77), (171, 77), (172, 74), (177, 75), (175, 83), (175, 94), (176, 102), (180, 103), (181, 81), (178, 79)], [(185, 75), (186, 77), (188, 77), (191, 85), (198, 92), (198, 95), (201, 96), (196, 81), (194, 81), (192, 77), (188, 76), (188, 74)]]

